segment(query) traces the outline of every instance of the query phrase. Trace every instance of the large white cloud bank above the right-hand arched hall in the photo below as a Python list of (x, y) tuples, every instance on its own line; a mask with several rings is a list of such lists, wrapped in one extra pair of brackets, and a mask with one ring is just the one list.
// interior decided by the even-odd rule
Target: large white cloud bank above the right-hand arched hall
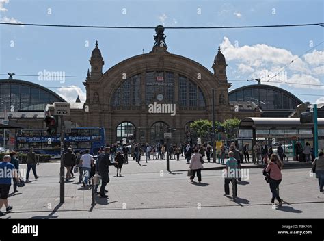
[(286, 83), (295, 88), (323, 88), (323, 86), (298, 85), (321, 85), (320, 75), (324, 75), (323, 60), (321, 60), (323, 51), (313, 51), (303, 60), (287, 49), (265, 44), (235, 46), (227, 37), (224, 37), (220, 45), (226, 60), (235, 61), (238, 66), (237, 73), (245, 75), (248, 79), (261, 78), (262, 82), (274, 86), (288, 82), (295, 83)]

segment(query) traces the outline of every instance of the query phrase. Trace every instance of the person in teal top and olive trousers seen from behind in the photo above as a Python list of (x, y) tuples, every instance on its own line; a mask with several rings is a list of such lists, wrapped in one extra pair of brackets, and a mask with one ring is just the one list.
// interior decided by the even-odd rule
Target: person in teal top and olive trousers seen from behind
[(238, 162), (234, 158), (234, 152), (228, 152), (229, 159), (226, 162), (225, 175), (224, 175), (224, 196), (230, 194), (230, 183), (232, 183), (232, 201), (237, 200), (237, 179), (239, 176)]

